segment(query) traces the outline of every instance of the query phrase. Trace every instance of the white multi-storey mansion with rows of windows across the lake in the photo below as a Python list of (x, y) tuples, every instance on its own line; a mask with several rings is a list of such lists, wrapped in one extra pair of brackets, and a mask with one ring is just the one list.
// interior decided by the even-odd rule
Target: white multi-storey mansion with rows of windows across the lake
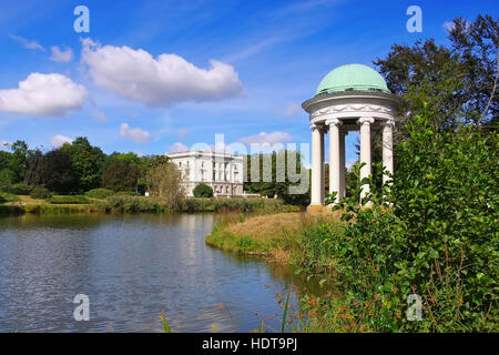
[(243, 156), (189, 151), (166, 154), (182, 172), (186, 196), (204, 183), (213, 189), (215, 196), (243, 195)]

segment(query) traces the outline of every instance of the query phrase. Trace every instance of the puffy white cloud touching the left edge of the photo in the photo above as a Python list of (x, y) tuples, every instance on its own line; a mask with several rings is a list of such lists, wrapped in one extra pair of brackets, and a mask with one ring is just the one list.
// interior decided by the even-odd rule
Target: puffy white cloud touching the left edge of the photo
[(0, 90), (0, 111), (65, 116), (80, 110), (88, 98), (84, 87), (64, 75), (31, 73), (18, 89)]

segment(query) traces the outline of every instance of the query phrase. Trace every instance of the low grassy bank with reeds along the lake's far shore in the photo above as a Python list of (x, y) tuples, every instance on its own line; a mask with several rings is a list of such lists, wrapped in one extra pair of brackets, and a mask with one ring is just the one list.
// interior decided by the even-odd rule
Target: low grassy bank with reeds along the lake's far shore
[(84, 196), (54, 196), (37, 200), (30, 196), (10, 196), (0, 204), (0, 215), (70, 214), (70, 213), (195, 213), (241, 212), (267, 214), (299, 211), (279, 200), (265, 199), (182, 199), (176, 205), (153, 197), (112, 195), (106, 199)]

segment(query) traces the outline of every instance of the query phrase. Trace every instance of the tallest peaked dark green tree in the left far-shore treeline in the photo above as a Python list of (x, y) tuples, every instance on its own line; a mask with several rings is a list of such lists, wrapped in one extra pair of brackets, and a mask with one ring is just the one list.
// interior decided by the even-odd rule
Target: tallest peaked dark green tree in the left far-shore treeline
[(84, 136), (77, 138), (71, 144), (61, 148), (68, 152), (79, 176), (79, 190), (89, 191), (100, 187), (105, 154), (98, 146), (92, 146)]

